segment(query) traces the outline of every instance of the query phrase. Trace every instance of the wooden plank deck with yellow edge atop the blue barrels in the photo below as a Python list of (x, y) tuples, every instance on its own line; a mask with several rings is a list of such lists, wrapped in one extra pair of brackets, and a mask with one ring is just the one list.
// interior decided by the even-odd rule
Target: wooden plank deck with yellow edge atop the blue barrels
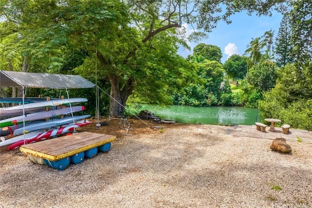
[(55, 139), (22, 145), (20, 151), (43, 159), (57, 161), (76, 153), (99, 147), (114, 141), (115, 139), (116, 136), (113, 135), (80, 132)]

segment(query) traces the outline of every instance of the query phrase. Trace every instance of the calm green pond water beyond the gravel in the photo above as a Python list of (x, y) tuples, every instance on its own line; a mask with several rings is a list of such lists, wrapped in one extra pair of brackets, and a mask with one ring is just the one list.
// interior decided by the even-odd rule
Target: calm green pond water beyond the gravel
[(193, 107), (143, 105), (141, 110), (148, 110), (161, 117), (162, 120), (174, 120), (189, 124), (223, 124), (223, 125), (254, 125), (261, 122), (259, 110), (244, 107)]

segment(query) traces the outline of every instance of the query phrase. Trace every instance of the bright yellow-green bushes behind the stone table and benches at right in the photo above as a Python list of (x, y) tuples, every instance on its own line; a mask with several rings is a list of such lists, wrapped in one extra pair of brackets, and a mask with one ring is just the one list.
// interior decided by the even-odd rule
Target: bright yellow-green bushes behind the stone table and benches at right
[[(279, 72), (275, 87), (259, 102), (261, 115), (279, 118), (294, 128), (312, 130), (312, 86), (296, 81), (295, 65), (287, 64)], [(309, 78), (304, 73), (303, 78)]]

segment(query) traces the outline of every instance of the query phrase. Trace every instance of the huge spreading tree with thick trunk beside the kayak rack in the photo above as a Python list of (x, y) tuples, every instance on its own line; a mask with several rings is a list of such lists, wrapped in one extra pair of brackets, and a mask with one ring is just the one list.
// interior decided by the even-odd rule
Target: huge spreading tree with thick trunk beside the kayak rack
[[(20, 45), (16, 48), (25, 69), (37, 60), (58, 73), (67, 54), (85, 51), (84, 66), (90, 67), (81, 67), (84, 75), (95, 74), (90, 63), (97, 59), (99, 80), (111, 84), (110, 114), (122, 114), (120, 104), (125, 105), (146, 77), (155, 77), (155, 69), (180, 75), (180, 83), (193, 73), (188, 67), (167, 68), (168, 64), (158, 63), (176, 57), (178, 45), (187, 47), (179, 30), (182, 22), (196, 23), (198, 29), (210, 32), (219, 20), (230, 23), (236, 12), (270, 15), (273, 6), (282, 11), (284, 4), (280, 0), (0, 0), (5, 19), (1, 31), (9, 31), (1, 36), (15, 37), (10, 43)], [(12, 24), (13, 30), (9, 29)], [(202, 35), (194, 32), (190, 38)]]

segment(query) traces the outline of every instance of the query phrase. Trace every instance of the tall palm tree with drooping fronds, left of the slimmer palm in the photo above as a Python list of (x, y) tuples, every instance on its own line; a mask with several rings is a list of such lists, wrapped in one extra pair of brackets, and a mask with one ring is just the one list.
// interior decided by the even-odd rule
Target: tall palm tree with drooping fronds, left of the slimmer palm
[(266, 46), (263, 41), (260, 41), (260, 38), (252, 38), (252, 41), (247, 45), (247, 49), (244, 53), (249, 55), (247, 58), (247, 65), (249, 68), (252, 68), (254, 65), (257, 65), (261, 59), (261, 50)]

